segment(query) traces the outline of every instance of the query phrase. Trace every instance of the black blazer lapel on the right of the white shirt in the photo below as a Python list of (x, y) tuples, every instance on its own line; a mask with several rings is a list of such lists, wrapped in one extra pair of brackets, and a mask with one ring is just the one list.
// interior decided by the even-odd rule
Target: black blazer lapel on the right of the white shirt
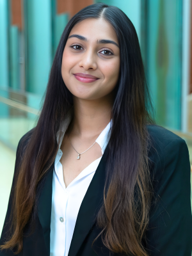
[(100, 159), (99, 166), (93, 176), (92, 182), (86, 191), (83, 202), (77, 215), (76, 226), (68, 256), (75, 256), (86, 238), (88, 232), (96, 221), (97, 213), (103, 202), (104, 183), (105, 183), (105, 170), (106, 170), (106, 151)]

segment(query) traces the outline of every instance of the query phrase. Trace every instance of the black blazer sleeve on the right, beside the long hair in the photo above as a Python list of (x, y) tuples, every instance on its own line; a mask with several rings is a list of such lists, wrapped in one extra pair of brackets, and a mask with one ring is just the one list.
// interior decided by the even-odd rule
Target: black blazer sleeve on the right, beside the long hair
[(157, 154), (154, 200), (146, 232), (150, 256), (191, 256), (191, 168), (186, 142), (172, 140)]

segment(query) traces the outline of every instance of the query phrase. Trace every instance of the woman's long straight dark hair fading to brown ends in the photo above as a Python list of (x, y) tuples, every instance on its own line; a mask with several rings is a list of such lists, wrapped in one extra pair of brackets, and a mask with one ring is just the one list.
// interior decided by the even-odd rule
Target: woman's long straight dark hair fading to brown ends
[(62, 54), (68, 35), (81, 20), (99, 19), (100, 15), (110, 22), (118, 37), (120, 76), (111, 113), (113, 126), (106, 162), (104, 204), (97, 215), (97, 225), (102, 228), (99, 236), (111, 252), (147, 256), (142, 239), (152, 199), (147, 132), (147, 124), (152, 124), (150, 95), (138, 36), (131, 20), (122, 10), (102, 3), (88, 6), (74, 15), (63, 31), (42, 112), (18, 167), (12, 205), (13, 231), (2, 249), (17, 248), (17, 253), (22, 250), (24, 227), (32, 221), (31, 215), (36, 209), (37, 188), (54, 163), (58, 151), (56, 132), (73, 105), (72, 94), (61, 77)]

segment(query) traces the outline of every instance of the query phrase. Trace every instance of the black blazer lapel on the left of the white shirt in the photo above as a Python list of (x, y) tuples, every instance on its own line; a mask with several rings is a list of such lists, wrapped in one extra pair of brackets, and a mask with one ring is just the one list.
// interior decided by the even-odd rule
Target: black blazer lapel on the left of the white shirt
[(52, 205), (52, 173), (54, 164), (49, 168), (47, 177), (40, 193), (38, 201), (38, 218), (43, 228), (45, 246), (50, 254), (50, 232), (51, 232), (51, 205)]

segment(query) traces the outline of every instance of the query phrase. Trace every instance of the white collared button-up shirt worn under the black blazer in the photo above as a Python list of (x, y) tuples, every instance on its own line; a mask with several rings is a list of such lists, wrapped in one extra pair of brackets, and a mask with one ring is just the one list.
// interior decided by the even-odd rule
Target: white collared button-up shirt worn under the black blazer
[[(71, 118), (72, 113), (70, 111), (63, 124), (61, 124), (61, 129), (59, 131), (61, 132), (60, 143), (58, 141), (60, 147)], [(104, 154), (104, 150), (108, 145), (110, 127), (111, 122), (109, 122), (96, 140), (100, 145), (102, 154)], [(57, 136), (59, 136), (59, 133)], [(68, 255), (79, 208), (101, 159), (101, 157), (99, 157), (93, 161), (79, 173), (76, 179), (72, 180), (66, 188), (63, 179), (63, 166), (60, 163), (62, 154), (63, 152), (59, 149), (54, 162), (54, 172), (52, 177), (51, 256)]]

